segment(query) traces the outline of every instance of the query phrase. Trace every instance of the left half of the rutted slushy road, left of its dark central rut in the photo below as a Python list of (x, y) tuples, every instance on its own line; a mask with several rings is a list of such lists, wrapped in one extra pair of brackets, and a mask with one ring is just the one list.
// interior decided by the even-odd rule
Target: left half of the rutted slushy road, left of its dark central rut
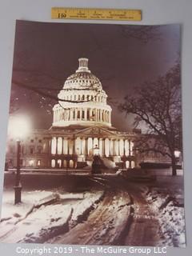
[(51, 243), (114, 245), (121, 239), (130, 217), (130, 197), (122, 190), (107, 190), (89, 218), (70, 232), (52, 239)]

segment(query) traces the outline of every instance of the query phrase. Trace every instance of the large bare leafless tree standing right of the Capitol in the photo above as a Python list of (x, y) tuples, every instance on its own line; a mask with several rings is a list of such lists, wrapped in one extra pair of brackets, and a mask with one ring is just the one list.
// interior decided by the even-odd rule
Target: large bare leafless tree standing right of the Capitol
[(170, 69), (154, 82), (145, 82), (128, 95), (119, 109), (134, 114), (134, 126), (141, 123), (146, 133), (138, 142), (138, 150), (154, 151), (170, 157), (172, 174), (176, 175), (175, 151), (182, 151), (182, 106), (180, 66)]

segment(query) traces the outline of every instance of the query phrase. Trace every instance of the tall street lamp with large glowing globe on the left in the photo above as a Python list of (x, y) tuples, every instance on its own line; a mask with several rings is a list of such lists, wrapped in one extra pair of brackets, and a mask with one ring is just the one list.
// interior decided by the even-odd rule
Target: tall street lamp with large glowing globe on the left
[(17, 171), (14, 186), (14, 204), (22, 202), (22, 184), (21, 184), (21, 140), (29, 134), (29, 118), (22, 115), (11, 116), (8, 126), (8, 136), (14, 138), (17, 142)]

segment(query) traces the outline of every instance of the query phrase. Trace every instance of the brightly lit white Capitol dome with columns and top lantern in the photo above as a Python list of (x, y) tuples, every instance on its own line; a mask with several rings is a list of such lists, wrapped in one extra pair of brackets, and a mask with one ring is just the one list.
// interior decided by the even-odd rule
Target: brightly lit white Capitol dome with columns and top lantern
[(111, 107), (102, 83), (90, 72), (88, 58), (79, 58), (78, 70), (66, 82), (54, 105), (53, 126), (111, 126)]

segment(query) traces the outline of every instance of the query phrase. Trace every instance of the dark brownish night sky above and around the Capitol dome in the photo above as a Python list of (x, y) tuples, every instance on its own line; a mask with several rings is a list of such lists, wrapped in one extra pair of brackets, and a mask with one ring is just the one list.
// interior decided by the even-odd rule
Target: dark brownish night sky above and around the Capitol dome
[[(13, 78), (38, 88), (55, 89), (51, 91), (57, 94), (66, 78), (77, 70), (78, 58), (86, 57), (109, 98), (122, 102), (134, 86), (165, 74), (178, 60), (179, 52), (178, 25), (148, 26), (145, 30), (141, 26), (18, 21)], [(14, 85), (11, 102), (18, 107), (17, 112), (30, 114), (34, 128), (50, 127), (54, 105), (50, 99)], [(113, 126), (128, 130), (132, 118), (125, 118), (109, 103)]]

